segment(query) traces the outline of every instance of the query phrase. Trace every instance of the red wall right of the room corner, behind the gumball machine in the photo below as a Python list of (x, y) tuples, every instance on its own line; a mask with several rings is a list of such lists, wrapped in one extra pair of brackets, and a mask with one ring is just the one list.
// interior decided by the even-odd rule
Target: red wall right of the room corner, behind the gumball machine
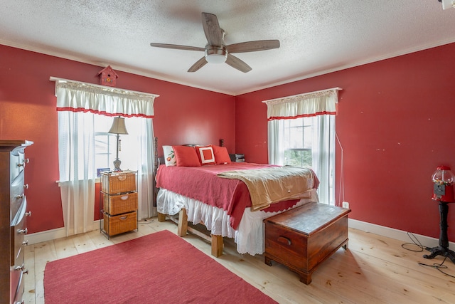
[[(267, 162), (267, 106), (262, 100), (341, 87), (336, 132), (336, 200), (351, 219), (439, 237), (431, 176), (455, 172), (455, 43), (341, 70), (236, 98), (236, 152)], [(342, 192), (343, 193), (343, 192)], [(455, 206), (449, 205), (455, 241)]]

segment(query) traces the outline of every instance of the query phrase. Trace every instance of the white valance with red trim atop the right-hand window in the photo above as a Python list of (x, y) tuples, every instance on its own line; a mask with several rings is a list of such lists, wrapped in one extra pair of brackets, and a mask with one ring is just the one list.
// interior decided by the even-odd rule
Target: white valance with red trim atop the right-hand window
[(335, 115), (338, 90), (331, 88), (317, 92), (264, 100), (267, 105), (267, 119), (280, 120), (315, 115)]

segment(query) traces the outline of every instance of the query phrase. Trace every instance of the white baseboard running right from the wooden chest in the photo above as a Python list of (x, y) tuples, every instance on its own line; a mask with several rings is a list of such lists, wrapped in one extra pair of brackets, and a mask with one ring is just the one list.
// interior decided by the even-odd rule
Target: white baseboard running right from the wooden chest
[[(349, 227), (353, 229), (370, 232), (371, 234), (378, 234), (386, 236), (387, 238), (403, 241), (403, 243), (412, 243), (407, 231), (393, 229), (385, 226), (367, 223), (365, 221), (358, 221), (356, 219), (349, 219)], [(433, 248), (439, 245), (439, 239), (431, 238), (429, 236), (422, 236), (420, 234), (413, 234), (413, 236), (422, 243), (423, 246)], [(455, 248), (455, 243), (449, 242), (449, 247)]]

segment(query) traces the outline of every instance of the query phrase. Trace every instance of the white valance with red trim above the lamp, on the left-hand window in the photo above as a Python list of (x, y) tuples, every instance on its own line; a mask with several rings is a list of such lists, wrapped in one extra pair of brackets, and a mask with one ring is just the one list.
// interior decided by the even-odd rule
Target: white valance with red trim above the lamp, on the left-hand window
[(58, 111), (93, 112), (108, 116), (154, 117), (159, 95), (53, 78)]

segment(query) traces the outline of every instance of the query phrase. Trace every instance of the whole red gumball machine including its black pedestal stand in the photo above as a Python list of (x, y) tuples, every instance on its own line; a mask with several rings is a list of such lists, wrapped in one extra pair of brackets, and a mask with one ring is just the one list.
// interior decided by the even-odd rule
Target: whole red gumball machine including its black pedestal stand
[(449, 214), (449, 204), (454, 200), (454, 182), (455, 175), (447, 166), (439, 166), (432, 175), (434, 183), (433, 197), (434, 201), (439, 201), (439, 246), (427, 248), (429, 254), (424, 254), (424, 258), (434, 258), (444, 256), (450, 258), (455, 263), (455, 252), (449, 249), (449, 238), (447, 237), (447, 214)]

